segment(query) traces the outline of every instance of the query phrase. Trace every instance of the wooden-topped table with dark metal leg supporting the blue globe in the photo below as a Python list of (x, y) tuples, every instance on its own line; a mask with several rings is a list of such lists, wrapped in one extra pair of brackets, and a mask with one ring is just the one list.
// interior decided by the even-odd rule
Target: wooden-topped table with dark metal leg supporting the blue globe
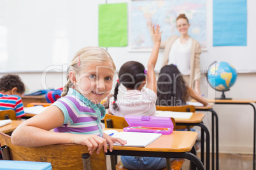
[(208, 99), (209, 102), (220, 105), (251, 105), (253, 107), (254, 117), (253, 117), (253, 170), (255, 170), (255, 142), (256, 142), (256, 109), (253, 103), (256, 101), (253, 99), (232, 99), (232, 100), (215, 100)]

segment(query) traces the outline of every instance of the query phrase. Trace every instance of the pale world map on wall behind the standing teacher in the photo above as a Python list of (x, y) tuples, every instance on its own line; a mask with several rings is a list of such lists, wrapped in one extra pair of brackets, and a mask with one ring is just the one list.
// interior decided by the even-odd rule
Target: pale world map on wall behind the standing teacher
[(153, 46), (147, 22), (159, 24), (162, 41), (177, 35), (176, 18), (184, 13), (190, 23), (188, 35), (206, 48), (206, 0), (132, 1), (131, 49), (151, 49)]

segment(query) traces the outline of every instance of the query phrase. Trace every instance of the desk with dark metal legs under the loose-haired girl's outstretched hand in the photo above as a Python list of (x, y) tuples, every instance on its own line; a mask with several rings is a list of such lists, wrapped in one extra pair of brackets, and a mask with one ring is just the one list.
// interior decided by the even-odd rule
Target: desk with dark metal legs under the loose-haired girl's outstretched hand
[[(196, 100), (192, 100), (192, 101), (196, 101)], [(219, 161), (218, 161), (218, 115), (217, 113), (215, 112), (215, 110), (213, 110), (212, 106), (213, 106), (214, 103), (208, 103), (207, 106), (203, 106), (203, 107), (195, 107), (196, 108), (196, 111), (209, 111), (211, 112), (211, 142), (212, 142), (212, 145), (211, 145), (211, 149), (212, 149), (212, 153), (211, 153), (211, 169), (214, 169), (214, 162), (215, 162), (215, 154), (214, 154), (214, 151), (215, 151), (215, 138), (214, 138), (214, 134), (216, 136), (216, 169), (218, 170), (219, 168)], [(214, 123), (215, 122), (215, 123)], [(215, 133), (215, 128), (216, 128), (216, 133)], [(201, 156), (202, 156), (202, 153), (201, 153)]]

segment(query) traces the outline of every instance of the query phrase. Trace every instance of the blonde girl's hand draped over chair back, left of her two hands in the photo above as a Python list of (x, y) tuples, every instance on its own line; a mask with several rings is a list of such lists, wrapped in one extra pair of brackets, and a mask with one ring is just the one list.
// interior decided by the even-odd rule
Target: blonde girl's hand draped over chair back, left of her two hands
[(108, 150), (107, 140), (95, 134), (78, 134), (78, 136), (73, 139), (72, 143), (86, 145), (90, 155), (92, 155), (95, 150), (96, 153), (99, 154), (102, 148), (104, 148), (105, 153)]

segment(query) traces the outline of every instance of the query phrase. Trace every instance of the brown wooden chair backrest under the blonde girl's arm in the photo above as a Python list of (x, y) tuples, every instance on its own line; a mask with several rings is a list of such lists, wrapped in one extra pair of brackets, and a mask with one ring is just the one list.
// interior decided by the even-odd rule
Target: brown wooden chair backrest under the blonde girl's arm
[[(44, 147), (20, 147), (11, 143), (11, 136), (0, 132), (1, 145), (7, 145), (11, 160), (50, 162), (53, 169), (83, 169), (82, 154), (89, 153), (84, 145), (63, 144)], [(102, 149), (90, 155), (92, 169), (106, 169), (106, 157)]]

